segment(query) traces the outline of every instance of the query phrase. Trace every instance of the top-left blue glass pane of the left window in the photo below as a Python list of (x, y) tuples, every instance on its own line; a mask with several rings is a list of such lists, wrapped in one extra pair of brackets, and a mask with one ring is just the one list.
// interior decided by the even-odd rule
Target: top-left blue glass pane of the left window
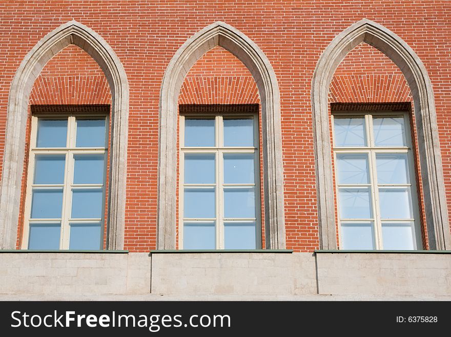
[(36, 147), (66, 147), (67, 120), (37, 122)]

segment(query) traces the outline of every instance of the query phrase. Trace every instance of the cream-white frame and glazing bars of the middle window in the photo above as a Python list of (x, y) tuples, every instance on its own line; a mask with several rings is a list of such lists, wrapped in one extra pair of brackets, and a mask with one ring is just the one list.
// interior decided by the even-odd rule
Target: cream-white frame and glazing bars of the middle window
[[(185, 147), (185, 117), (187, 118), (212, 118), (215, 119), (215, 145), (213, 147)], [(254, 127), (254, 146), (253, 147), (224, 147), (223, 141), (223, 119), (244, 119), (252, 118)], [(215, 242), (216, 249), (224, 249), (224, 222), (252, 223), (255, 221), (255, 240), (256, 248), (261, 249), (261, 191), (260, 191), (260, 137), (259, 137), (259, 120), (257, 114), (227, 114), (227, 113), (211, 113), (211, 114), (183, 114), (179, 117), (179, 207), (178, 207), (178, 247), (183, 249), (183, 226), (185, 221), (193, 222), (215, 222)], [(215, 184), (185, 184), (185, 153), (214, 153), (215, 154)], [(223, 175), (223, 154), (224, 153), (253, 153), (254, 154), (254, 184), (224, 184)], [(216, 217), (210, 219), (193, 219), (183, 217), (183, 195), (185, 187), (193, 188), (215, 187), (215, 212)], [(224, 217), (223, 190), (226, 188), (255, 188), (255, 218), (246, 219), (229, 219)], [(260, 205), (260, 207), (259, 207)]]

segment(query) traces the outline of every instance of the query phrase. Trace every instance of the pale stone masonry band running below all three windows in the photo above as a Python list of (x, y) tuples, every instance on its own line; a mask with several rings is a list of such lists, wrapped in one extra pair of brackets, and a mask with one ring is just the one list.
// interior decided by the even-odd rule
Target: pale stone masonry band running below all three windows
[(451, 300), (451, 254), (0, 253), (0, 300)]

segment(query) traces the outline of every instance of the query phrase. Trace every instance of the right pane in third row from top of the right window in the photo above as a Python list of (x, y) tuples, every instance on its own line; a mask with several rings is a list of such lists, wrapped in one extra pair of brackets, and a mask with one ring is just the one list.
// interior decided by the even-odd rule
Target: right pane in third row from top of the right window
[(379, 188), (382, 219), (411, 219), (411, 195), (408, 188)]

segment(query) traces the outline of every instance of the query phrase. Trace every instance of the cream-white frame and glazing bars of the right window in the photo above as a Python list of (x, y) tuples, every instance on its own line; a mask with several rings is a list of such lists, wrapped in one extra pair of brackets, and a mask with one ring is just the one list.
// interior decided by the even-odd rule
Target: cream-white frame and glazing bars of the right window
[[(334, 117), (342, 118), (364, 118), (365, 120), (365, 132), (366, 132), (366, 144), (367, 146), (362, 147), (336, 147), (335, 146), (335, 123)], [(374, 145), (374, 130), (373, 130), (373, 117), (402, 117), (404, 120), (404, 135), (405, 135), (405, 146), (397, 147), (376, 147)], [(390, 219), (389, 222), (413, 222), (413, 246), (414, 250), (423, 249), (423, 243), (421, 238), (421, 219), (419, 212), (419, 201), (418, 201), (418, 190), (416, 182), (416, 172), (417, 169), (414, 165), (414, 152), (412, 146), (412, 131), (411, 122), (407, 112), (393, 112), (393, 111), (347, 111), (347, 112), (333, 112), (331, 114), (331, 125), (332, 125), (332, 140), (333, 140), (333, 158), (334, 158), (334, 171), (335, 171), (335, 191), (336, 191), (336, 205), (337, 205), (337, 220), (338, 220), (338, 243), (340, 249), (342, 249), (341, 243), (341, 223), (361, 223), (361, 222), (373, 222), (374, 224), (374, 247), (375, 250), (383, 249), (382, 243), (382, 221), (379, 208), (379, 188), (390, 188), (390, 187), (407, 187), (411, 191), (411, 202), (412, 202), (412, 214), (413, 219)], [(337, 169), (337, 154), (357, 154), (365, 153), (368, 157), (368, 173), (370, 174), (369, 184), (339, 184), (338, 183), (338, 169)], [(408, 184), (378, 184), (377, 183), (377, 172), (376, 172), (376, 154), (377, 153), (405, 153), (407, 155), (408, 162)], [(355, 186), (354, 186), (355, 185)], [(370, 219), (341, 219), (340, 217), (340, 202), (339, 202), (339, 188), (340, 187), (370, 187), (371, 188), (371, 207), (373, 209), (373, 217)], [(387, 220), (385, 220), (387, 222)]]

